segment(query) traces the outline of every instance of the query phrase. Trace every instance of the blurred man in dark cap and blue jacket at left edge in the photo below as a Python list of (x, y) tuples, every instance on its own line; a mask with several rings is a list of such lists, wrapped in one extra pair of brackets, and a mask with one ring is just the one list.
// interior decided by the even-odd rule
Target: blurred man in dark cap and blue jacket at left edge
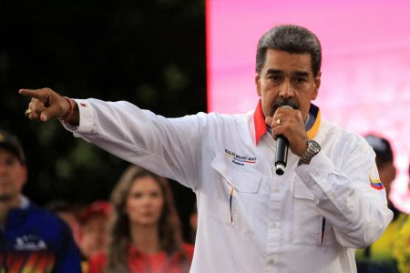
[(0, 130), (0, 272), (81, 272), (69, 227), (22, 195), (26, 178), (20, 142)]

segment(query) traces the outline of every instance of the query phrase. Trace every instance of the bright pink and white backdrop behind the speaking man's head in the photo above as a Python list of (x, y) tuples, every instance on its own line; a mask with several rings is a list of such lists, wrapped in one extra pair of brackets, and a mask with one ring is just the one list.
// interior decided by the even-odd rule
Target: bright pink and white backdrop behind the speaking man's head
[(410, 212), (410, 1), (207, 0), (209, 111), (254, 109), (255, 55), (273, 25), (303, 25), (323, 46), (323, 119), (391, 140), (398, 168), (391, 198)]

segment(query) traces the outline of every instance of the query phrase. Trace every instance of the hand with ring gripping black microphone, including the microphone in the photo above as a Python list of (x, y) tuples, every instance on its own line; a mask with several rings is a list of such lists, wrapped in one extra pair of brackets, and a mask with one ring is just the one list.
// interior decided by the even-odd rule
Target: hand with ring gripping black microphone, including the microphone
[(277, 141), (276, 150), (276, 174), (284, 173), (288, 149), (293, 154), (302, 157), (307, 148), (307, 136), (302, 119), (302, 113), (292, 106), (279, 107), (272, 117), (266, 118), (266, 124), (272, 127), (272, 136)]

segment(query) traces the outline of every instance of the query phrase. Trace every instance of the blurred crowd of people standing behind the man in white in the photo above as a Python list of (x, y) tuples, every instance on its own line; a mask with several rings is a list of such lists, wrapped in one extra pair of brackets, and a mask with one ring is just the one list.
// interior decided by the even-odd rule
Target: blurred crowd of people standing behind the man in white
[[(396, 174), (392, 145), (383, 136), (364, 138), (374, 148), (381, 180), (371, 187), (385, 187), (388, 197)], [(1, 272), (190, 271), (196, 209), (190, 216), (190, 242), (185, 242), (164, 177), (130, 166), (109, 200), (83, 207), (53, 200), (38, 207), (22, 194), (26, 175), (19, 140), (0, 131)], [(357, 249), (358, 272), (410, 272), (410, 218), (389, 199), (388, 207), (394, 220), (371, 246)]]

